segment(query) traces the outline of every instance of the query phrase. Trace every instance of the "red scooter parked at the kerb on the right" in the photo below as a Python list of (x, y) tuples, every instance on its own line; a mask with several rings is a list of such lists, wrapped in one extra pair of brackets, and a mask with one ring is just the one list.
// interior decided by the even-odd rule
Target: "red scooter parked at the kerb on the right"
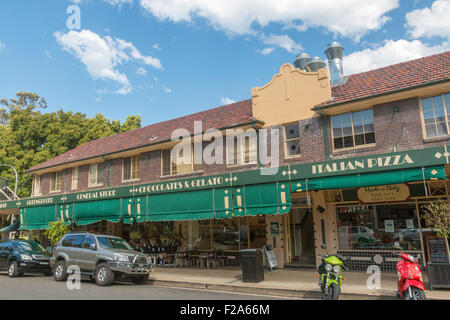
[(397, 263), (397, 296), (403, 300), (425, 300), (422, 271), (416, 258), (403, 253), (398, 242), (395, 242), (394, 246), (401, 250), (401, 253), (395, 253), (400, 257)]

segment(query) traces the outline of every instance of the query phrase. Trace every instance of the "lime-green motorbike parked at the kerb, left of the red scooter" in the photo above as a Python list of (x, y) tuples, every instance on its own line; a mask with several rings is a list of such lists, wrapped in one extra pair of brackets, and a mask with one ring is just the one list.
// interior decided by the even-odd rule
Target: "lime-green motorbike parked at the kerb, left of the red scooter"
[[(322, 244), (322, 249), (326, 250), (327, 246)], [(319, 286), (322, 291), (322, 300), (338, 300), (341, 293), (342, 283), (345, 280), (342, 276), (342, 269), (348, 270), (344, 265), (347, 260), (338, 254), (319, 255), (322, 258), (322, 264), (318, 268)]]

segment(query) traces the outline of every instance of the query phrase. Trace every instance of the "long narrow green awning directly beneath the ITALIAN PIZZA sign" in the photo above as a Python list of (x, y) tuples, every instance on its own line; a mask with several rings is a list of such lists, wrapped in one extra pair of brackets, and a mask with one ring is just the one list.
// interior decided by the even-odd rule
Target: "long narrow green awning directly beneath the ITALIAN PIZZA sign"
[(414, 168), (347, 176), (304, 179), (292, 181), (292, 192), (372, 187), (396, 183), (407, 183), (422, 181), (424, 176), (425, 180), (445, 180), (445, 167), (426, 167), (424, 168), (423, 174), (422, 168)]

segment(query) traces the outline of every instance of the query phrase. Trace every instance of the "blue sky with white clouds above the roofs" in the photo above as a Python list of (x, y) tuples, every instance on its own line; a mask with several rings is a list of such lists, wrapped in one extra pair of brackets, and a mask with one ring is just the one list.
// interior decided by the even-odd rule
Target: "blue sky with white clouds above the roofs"
[(303, 52), (344, 73), (450, 50), (450, 0), (0, 1), (0, 99), (143, 125), (251, 98)]

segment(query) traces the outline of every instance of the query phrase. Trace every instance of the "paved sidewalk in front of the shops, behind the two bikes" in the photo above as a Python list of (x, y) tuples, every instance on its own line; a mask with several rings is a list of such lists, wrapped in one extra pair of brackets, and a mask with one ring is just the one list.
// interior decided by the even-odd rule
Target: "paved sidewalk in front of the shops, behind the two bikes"
[[(226, 269), (186, 269), (157, 267), (150, 276), (154, 285), (229, 291), (240, 293), (267, 294), (271, 296), (320, 299), (318, 273), (312, 269), (278, 269), (266, 271), (264, 281), (242, 282), (242, 271), (238, 268)], [(381, 289), (368, 289), (369, 275), (362, 272), (344, 274), (342, 299), (397, 299), (396, 273), (381, 274)], [(425, 278), (425, 286), (427, 279)], [(426, 292), (427, 299), (450, 300), (450, 290)]]

